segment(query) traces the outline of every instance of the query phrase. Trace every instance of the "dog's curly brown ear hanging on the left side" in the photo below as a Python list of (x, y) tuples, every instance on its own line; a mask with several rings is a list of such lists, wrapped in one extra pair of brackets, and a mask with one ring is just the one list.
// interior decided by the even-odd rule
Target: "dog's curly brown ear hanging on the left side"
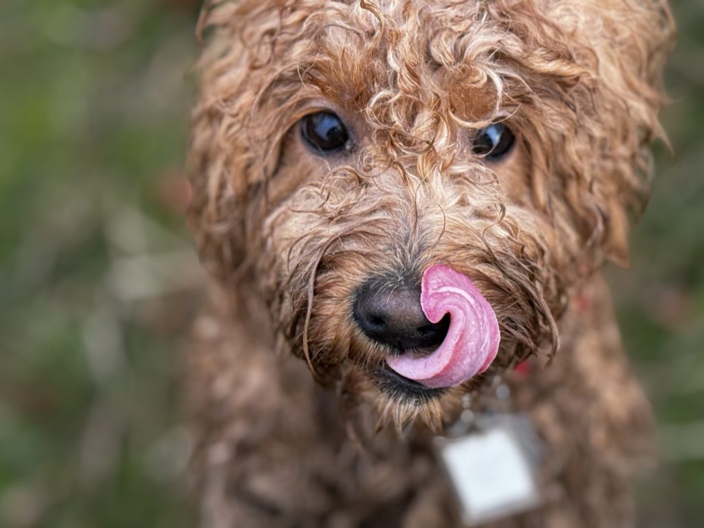
[(261, 206), (265, 175), (275, 161), (276, 146), (254, 111), (267, 82), (265, 35), (276, 18), (267, 6), (207, 1), (197, 30), (203, 50), (191, 116), (188, 223), (203, 266), (221, 281), (246, 270), (256, 232), (249, 219)]

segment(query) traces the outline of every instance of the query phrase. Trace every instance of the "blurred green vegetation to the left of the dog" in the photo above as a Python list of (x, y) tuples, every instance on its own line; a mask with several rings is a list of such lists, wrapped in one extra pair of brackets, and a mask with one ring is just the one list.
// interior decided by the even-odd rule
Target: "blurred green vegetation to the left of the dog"
[(190, 527), (189, 1), (0, 5), (0, 527)]

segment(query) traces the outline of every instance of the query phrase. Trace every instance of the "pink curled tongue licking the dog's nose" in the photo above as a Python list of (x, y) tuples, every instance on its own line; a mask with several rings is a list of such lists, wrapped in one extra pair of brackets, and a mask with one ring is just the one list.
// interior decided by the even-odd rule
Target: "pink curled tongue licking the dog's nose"
[(463, 384), (491, 365), (500, 339), (498, 321), (469, 277), (448, 266), (431, 266), (423, 273), (420, 306), (430, 322), (439, 322), (450, 314), (447, 336), (425, 358), (410, 353), (389, 356), (389, 367), (436, 389)]

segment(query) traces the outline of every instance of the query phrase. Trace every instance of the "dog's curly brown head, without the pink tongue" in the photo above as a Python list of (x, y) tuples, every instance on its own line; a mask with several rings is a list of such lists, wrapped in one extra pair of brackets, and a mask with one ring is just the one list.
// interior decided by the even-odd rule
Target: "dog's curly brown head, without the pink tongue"
[[(659, 130), (664, 4), (214, 4), (191, 226), (206, 265), (264, 299), (322, 382), (431, 421), (555, 347), (580, 279), (627, 260)], [(501, 345), (483, 374), (431, 389), (386, 359), (445, 339), (448, 320), (420, 306), (436, 265), (481, 291)]]

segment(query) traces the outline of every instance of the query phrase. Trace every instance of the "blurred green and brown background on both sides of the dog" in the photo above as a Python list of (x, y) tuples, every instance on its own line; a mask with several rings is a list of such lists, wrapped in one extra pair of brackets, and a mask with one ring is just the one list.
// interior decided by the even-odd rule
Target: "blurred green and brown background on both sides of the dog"
[[(196, 0), (0, 4), (0, 527), (190, 527), (182, 184)], [(643, 527), (704, 518), (704, 0), (634, 264), (610, 270), (658, 416)]]

